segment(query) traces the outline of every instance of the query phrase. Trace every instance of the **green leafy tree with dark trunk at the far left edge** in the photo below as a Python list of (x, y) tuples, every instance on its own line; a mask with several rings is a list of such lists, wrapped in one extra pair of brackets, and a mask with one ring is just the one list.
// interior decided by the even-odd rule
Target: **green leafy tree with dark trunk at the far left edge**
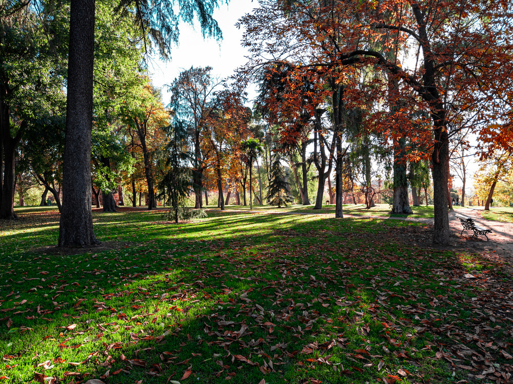
[[(52, 115), (62, 99), (63, 14), (40, 14), (29, 2), (0, 6), (0, 219), (14, 219), (14, 159), (24, 138), (34, 137), (41, 115)], [(51, 32), (47, 32), (51, 31)], [(55, 108), (58, 110), (58, 108)]]

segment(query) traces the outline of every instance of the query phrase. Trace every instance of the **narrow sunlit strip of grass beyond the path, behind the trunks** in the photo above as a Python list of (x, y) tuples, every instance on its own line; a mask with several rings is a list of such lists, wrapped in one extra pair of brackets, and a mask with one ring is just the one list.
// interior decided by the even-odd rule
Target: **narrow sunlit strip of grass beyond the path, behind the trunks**
[[(335, 206), (332, 205), (323, 205), (322, 209), (315, 210), (313, 209), (314, 205), (289, 205), (282, 208), (277, 208), (269, 205), (254, 205), (253, 210), (257, 211), (265, 211), (265, 212), (298, 212), (302, 214), (335, 214)], [(219, 209), (215, 205), (207, 206), (208, 209)], [(249, 210), (248, 206), (241, 205), (227, 205), (226, 209), (228, 210)], [(383, 216), (383, 217), (410, 217), (410, 218), (434, 218), (435, 214), (433, 213), (432, 205), (421, 205), (421, 206), (412, 206), (411, 210), (413, 211), (412, 215), (399, 215), (399, 214), (390, 214), (391, 207), (389, 204), (376, 204), (375, 207), (367, 209), (365, 204), (344, 204), (343, 213), (347, 215), (358, 215), (358, 216)]]

